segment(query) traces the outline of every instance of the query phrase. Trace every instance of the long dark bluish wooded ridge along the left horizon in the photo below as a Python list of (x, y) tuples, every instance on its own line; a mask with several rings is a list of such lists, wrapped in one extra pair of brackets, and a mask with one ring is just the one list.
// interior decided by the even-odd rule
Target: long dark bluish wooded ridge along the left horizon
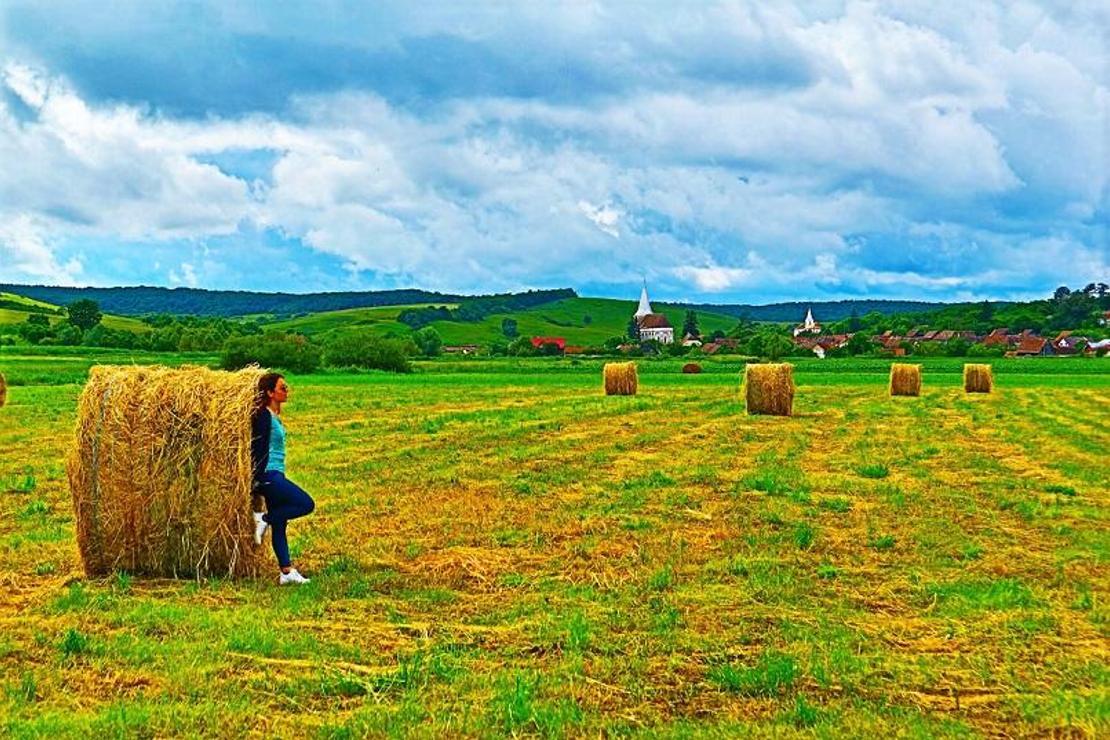
[(464, 300), (464, 296), (417, 290), (297, 294), (205, 291), (193, 287), (54, 287), (0, 284), (0, 291), (62, 306), (80, 298), (91, 298), (100, 304), (101, 311), (125, 316), (293, 315), (372, 306), (458, 303)]

